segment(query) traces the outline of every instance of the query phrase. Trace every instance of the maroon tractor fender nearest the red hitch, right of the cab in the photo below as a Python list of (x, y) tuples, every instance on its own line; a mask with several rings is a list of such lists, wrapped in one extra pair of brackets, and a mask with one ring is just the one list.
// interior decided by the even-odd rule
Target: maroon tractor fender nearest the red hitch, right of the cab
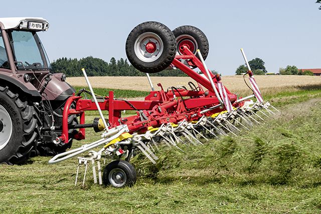
[[(46, 89), (44, 90), (42, 99), (43, 100), (66, 100), (68, 97), (73, 95), (75, 89), (65, 82), (66, 76), (62, 73), (52, 74), (51, 80), (48, 82)], [(42, 80), (44, 85), (45, 78)], [(46, 94), (46, 96), (44, 96)]]

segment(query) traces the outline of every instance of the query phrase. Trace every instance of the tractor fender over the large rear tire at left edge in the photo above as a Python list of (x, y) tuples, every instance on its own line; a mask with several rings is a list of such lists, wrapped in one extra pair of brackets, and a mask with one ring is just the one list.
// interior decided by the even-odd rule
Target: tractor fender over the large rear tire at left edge
[(13, 75), (8, 72), (0, 72), (0, 82), (4, 86), (18, 87), (24, 93), (32, 96), (33, 98), (41, 98), (37, 88), (29, 82), (25, 82), (23, 75)]

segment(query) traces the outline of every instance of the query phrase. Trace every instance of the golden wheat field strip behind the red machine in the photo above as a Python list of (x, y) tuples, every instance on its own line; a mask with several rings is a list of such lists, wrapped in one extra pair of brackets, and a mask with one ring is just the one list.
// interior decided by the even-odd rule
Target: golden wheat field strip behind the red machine
[[(247, 77), (245, 79), (248, 80)], [(300, 87), (321, 84), (319, 76), (255, 76), (255, 79), (263, 93), (289, 88), (295, 90)], [(89, 77), (89, 80), (95, 88), (150, 91), (147, 77)], [(159, 89), (157, 83), (161, 83), (164, 89), (171, 86), (187, 86), (190, 81), (196, 83), (190, 77), (151, 77), (151, 81), (156, 90)], [(73, 86), (87, 86), (83, 77), (69, 77), (67, 82)], [(223, 76), (222, 82), (234, 93), (243, 93), (249, 90), (244, 83), (243, 76)]]

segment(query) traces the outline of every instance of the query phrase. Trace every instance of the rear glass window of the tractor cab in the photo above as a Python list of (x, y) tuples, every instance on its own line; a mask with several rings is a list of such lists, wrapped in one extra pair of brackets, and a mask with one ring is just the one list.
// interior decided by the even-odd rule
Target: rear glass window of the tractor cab
[(47, 54), (36, 32), (9, 31), (8, 36), (18, 70), (50, 69)]

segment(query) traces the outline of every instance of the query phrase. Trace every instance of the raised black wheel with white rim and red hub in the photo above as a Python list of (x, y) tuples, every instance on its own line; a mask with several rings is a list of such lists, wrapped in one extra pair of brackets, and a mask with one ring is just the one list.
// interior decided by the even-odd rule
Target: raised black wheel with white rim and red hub
[(137, 25), (129, 33), (125, 49), (131, 65), (144, 73), (157, 73), (168, 68), (177, 51), (173, 32), (158, 22)]

